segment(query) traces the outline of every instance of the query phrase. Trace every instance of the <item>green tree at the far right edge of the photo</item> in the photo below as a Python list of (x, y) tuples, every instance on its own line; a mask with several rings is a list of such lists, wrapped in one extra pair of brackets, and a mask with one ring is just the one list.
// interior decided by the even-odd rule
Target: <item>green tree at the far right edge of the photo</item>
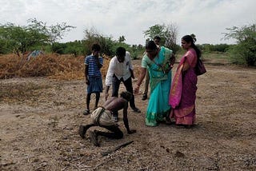
[(256, 24), (227, 28), (224, 39), (234, 38), (237, 45), (231, 46), (230, 58), (233, 63), (255, 66), (256, 62)]

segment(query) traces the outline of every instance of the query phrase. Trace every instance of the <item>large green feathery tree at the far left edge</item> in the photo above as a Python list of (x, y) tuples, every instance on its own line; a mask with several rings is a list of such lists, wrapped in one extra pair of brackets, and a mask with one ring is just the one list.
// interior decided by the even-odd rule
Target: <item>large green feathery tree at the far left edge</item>
[[(44, 22), (38, 22), (35, 18), (28, 20), (28, 26), (15, 26), (13, 23), (0, 25), (1, 53), (25, 54), (38, 46), (54, 44), (66, 31), (74, 26), (66, 26), (66, 23), (56, 26), (46, 26)], [(54, 47), (53, 47), (54, 48)], [(4, 50), (3, 50), (4, 49)]]

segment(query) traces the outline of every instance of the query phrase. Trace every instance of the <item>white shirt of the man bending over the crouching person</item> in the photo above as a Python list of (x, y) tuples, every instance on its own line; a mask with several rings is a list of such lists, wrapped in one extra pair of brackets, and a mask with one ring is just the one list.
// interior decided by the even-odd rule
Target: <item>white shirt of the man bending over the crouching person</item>
[(112, 85), (112, 78), (115, 75), (119, 80), (122, 78), (126, 81), (130, 78), (130, 70), (134, 70), (134, 67), (131, 64), (130, 53), (126, 51), (126, 57), (124, 62), (118, 62), (118, 58), (114, 56), (110, 60), (110, 65), (106, 73), (106, 85)]

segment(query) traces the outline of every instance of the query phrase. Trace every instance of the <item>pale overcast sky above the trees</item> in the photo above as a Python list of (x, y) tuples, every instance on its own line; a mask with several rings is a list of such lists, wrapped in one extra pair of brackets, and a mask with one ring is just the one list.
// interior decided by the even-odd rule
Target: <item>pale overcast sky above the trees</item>
[(0, 24), (27, 26), (36, 18), (47, 26), (66, 22), (76, 26), (62, 42), (82, 40), (84, 30), (130, 45), (145, 44), (143, 32), (156, 24), (178, 26), (178, 44), (195, 34), (199, 44), (234, 43), (222, 40), (226, 28), (256, 22), (255, 0), (0, 0)]

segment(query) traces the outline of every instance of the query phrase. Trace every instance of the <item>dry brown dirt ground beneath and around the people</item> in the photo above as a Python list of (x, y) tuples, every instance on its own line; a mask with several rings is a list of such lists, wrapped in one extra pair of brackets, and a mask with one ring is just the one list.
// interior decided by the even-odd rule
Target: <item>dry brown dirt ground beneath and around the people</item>
[[(138, 94), (142, 113), (128, 111), (137, 133), (127, 134), (119, 121), (124, 138), (99, 137), (100, 147), (78, 135), (78, 126), (90, 122), (82, 115), (83, 80), (0, 80), (0, 170), (256, 170), (256, 70), (206, 68), (198, 77), (194, 128), (147, 127), (148, 101)], [(102, 155), (128, 141), (133, 143)]]

